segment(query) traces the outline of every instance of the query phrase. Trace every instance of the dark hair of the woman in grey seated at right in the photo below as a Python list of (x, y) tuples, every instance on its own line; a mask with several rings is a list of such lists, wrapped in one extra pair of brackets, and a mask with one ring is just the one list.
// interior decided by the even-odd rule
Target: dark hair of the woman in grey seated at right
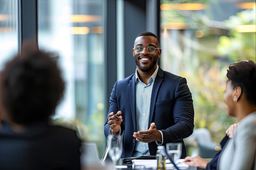
[(227, 78), (234, 87), (240, 86), (248, 102), (256, 104), (256, 64), (249, 60), (229, 66)]

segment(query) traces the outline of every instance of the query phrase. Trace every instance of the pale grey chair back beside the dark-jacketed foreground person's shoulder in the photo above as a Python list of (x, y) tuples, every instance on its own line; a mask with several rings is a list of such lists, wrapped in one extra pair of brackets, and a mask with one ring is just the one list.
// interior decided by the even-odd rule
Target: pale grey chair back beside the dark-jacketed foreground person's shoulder
[(94, 142), (82, 142), (81, 165), (100, 165), (97, 145)]

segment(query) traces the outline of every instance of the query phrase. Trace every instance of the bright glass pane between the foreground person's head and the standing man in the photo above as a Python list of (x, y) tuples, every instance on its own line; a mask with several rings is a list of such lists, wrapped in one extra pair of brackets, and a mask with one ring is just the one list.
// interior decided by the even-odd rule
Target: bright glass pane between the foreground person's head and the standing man
[(76, 121), (103, 150), (103, 0), (38, 0), (38, 26), (39, 48), (59, 56), (66, 81), (56, 117)]

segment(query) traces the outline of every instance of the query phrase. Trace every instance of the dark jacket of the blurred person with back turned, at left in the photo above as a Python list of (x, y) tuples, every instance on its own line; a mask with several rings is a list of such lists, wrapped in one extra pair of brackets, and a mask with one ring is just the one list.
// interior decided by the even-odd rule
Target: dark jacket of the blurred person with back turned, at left
[(74, 130), (47, 123), (16, 133), (0, 128), (0, 170), (80, 170), (81, 140)]

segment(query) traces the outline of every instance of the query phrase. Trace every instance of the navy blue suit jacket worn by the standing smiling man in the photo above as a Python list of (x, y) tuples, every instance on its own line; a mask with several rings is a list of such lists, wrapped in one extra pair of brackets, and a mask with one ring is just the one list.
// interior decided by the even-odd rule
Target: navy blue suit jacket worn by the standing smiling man
[[(124, 133), (122, 158), (131, 157), (135, 148), (136, 140), (132, 137), (133, 132), (136, 131), (135, 99), (135, 74), (115, 83), (108, 113), (115, 114), (118, 110), (122, 112), (121, 133)], [(104, 126), (106, 137), (110, 132), (107, 121)], [(151, 95), (148, 128), (152, 122), (155, 122), (157, 130), (163, 132), (164, 146), (171, 142), (183, 143), (182, 158), (184, 158), (186, 148), (183, 138), (189, 137), (194, 128), (193, 100), (186, 79), (163, 71), (160, 67)], [(156, 142), (150, 142), (148, 147), (150, 155), (155, 155)]]

